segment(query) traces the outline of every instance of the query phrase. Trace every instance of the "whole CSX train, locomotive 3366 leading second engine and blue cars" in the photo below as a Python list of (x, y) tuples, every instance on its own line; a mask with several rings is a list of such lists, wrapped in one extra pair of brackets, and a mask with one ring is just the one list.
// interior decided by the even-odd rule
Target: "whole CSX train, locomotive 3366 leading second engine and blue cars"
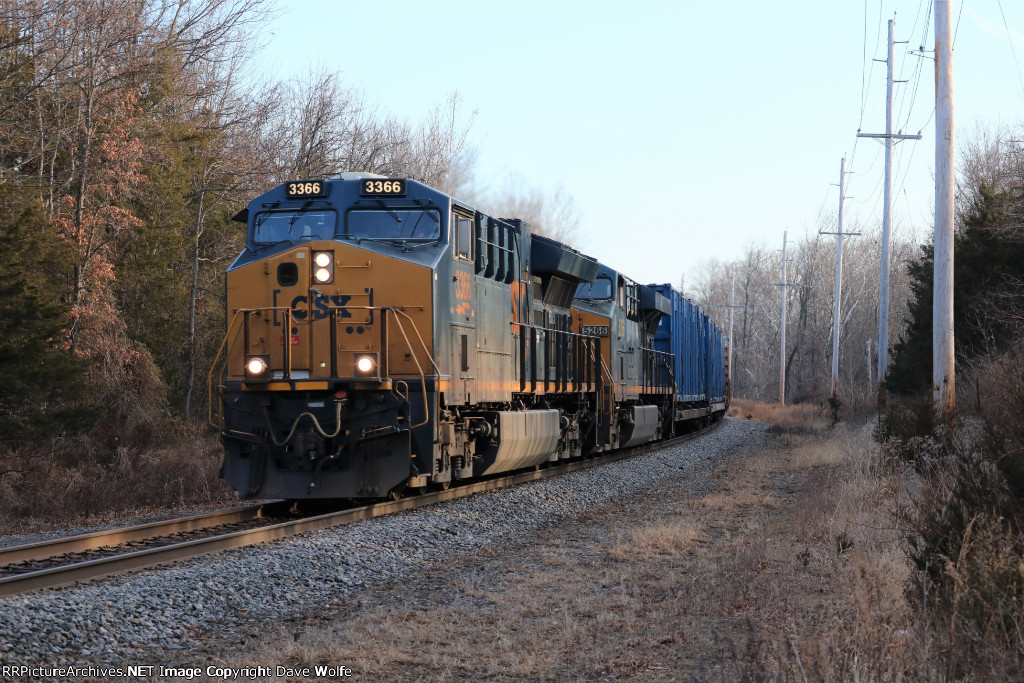
[(727, 408), (724, 338), (698, 307), (520, 220), (365, 173), (284, 183), (237, 219), (211, 388), (242, 498), (445, 487)]

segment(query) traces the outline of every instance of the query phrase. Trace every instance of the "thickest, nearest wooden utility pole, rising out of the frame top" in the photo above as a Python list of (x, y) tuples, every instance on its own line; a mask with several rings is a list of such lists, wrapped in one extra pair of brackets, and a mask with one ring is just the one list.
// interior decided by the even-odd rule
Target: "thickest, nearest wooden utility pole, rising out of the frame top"
[(953, 365), (953, 46), (950, 0), (935, 2), (935, 294), (932, 389), (943, 422), (956, 408)]

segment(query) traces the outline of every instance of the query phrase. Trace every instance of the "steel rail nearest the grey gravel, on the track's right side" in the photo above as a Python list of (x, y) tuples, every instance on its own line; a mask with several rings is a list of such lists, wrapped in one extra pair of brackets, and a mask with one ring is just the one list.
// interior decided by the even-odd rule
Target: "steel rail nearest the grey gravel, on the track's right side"
[(427, 507), (429, 505), (445, 501), (468, 498), (469, 496), (482, 492), (504, 488), (506, 486), (524, 483), (527, 481), (547, 479), (567, 474), (569, 472), (575, 472), (578, 470), (588, 469), (599, 465), (606, 465), (627, 460), (645, 453), (651, 453), (678, 445), (697, 436), (707, 434), (720, 424), (721, 422), (718, 422), (712, 427), (666, 441), (646, 443), (632, 449), (627, 449), (625, 451), (616, 451), (610, 454), (598, 456), (596, 458), (572, 461), (553, 467), (534, 469), (509, 475), (499, 475), (495, 478), (474, 481), (468, 484), (449, 488), (446, 490), (436, 490), (420, 496), (398, 499), (397, 501), (385, 501), (383, 503), (365, 505), (357, 508), (342, 510), (340, 512), (330, 512), (314, 517), (306, 517), (304, 519), (261, 526), (259, 528), (233, 531), (208, 539), (186, 541), (159, 548), (150, 548), (123, 555), (116, 555), (113, 557), (87, 560), (61, 567), (52, 567), (5, 577), (0, 579), (0, 595), (13, 595), (41, 588), (67, 586), (69, 584), (82, 581), (100, 579), (143, 567), (188, 559), (223, 550), (230, 550), (232, 548), (243, 548), (269, 541), (276, 541), (279, 539), (285, 539), (299, 533), (305, 533), (307, 531), (321, 530), (332, 526), (340, 526), (349, 522), (389, 515), (403, 510), (414, 510), (416, 508)]

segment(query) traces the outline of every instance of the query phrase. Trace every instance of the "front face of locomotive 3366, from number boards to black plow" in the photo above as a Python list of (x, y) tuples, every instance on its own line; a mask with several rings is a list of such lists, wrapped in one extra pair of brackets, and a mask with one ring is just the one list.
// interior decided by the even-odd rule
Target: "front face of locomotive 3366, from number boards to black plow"
[(429, 451), (446, 206), (407, 197), (419, 183), (370, 182), (286, 183), (250, 203), (220, 389), (224, 477), (243, 498), (383, 496), (416, 474), (418, 441)]

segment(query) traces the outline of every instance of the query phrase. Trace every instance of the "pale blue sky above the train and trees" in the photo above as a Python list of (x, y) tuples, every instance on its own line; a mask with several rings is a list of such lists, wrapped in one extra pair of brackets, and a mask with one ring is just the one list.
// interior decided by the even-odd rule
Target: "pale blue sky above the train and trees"
[[(844, 155), (845, 225), (881, 223), (882, 145), (856, 132), (885, 129), (885, 63), (871, 59), (885, 59), (894, 12), (910, 41), (897, 45), (896, 78), (910, 82), (895, 125), (924, 135), (897, 146), (895, 219), (931, 228), (934, 67), (906, 53), (934, 48), (930, 4), (303, 0), (282, 3), (262, 59), (281, 77), (338, 70), (412, 121), (458, 90), (478, 112), (482, 184), (561, 183), (582, 251), (690, 286), (703, 260), (835, 223)], [(957, 1), (957, 18), (958, 140), (1024, 122), (1024, 3)]]

